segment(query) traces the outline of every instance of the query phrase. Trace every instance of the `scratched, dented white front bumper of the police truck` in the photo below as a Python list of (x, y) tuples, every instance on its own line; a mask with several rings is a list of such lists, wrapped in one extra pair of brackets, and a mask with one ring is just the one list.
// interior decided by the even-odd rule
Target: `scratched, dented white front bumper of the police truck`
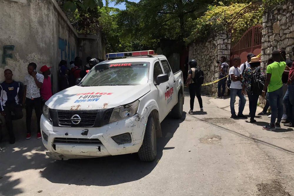
[[(98, 128), (54, 127), (43, 115), (40, 124), (42, 134), (48, 135), (47, 141), (42, 137), (44, 146), (50, 151), (46, 155), (64, 160), (136, 153), (142, 145), (146, 127), (139, 114)], [(85, 130), (88, 130), (87, 135)], [(131, 143), (117, 144), (111, 138), (123, 133), (131, 134)]]

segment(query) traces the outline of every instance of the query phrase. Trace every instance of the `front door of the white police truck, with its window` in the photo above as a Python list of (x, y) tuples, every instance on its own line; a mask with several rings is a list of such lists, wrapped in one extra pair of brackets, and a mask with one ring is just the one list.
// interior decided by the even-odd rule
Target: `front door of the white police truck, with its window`
[[(163, 74), (162, 67), (159, 63), (159, 61), (156, 61), (154, 63), (154, 68), (153, 68), (153, 80), (156, 82), (156, 78), (159, 74)], [(155, 87), (158, 90), (157, 93), (157, 104), (158, 104), (158, 109), (159, 109), (159, 120), (160, 122), (166, 117), (169, 111), (167, 111), (166, 107), (166, 100), (165, 100), (165, 93), (167, 91), (167, 86), (168, 82), (161, 83), (159, 85), (156, 85)]]

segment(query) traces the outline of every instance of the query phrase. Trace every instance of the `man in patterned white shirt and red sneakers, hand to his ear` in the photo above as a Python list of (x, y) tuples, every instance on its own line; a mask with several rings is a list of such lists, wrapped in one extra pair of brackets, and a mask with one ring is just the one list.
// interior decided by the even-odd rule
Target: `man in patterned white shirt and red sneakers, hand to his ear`
[(31, 139), (31, 117), (33, 108), (37, 117), (37, 139), (41, 139), (40, 119), (41, 119), (41, 95), (40, 88), (42, 88), (44, 76), (36, 72), (36, 63), (29, 63), (28, 75), (24, 77), (24, 100), (23, 105), (26, 106), (26, 139)]

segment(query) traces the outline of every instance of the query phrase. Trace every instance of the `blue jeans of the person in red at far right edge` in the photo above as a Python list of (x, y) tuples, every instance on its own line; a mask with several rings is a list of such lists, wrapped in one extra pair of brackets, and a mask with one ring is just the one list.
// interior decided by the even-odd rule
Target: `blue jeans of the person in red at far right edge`
[(288, 85), (288, 89), (283, 98), (283, 101), (286, 106), (287, 119), (291, 123), (294, 123), (294, 83)]

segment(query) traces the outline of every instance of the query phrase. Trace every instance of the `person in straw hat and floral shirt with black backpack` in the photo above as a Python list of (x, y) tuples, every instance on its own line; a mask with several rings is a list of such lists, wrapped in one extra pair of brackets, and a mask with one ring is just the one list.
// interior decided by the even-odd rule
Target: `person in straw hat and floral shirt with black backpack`
[(259, 96), (262, 94), (265, 81), (264, 69), (260, 66), (258, 57), (252, 57), (250, 66), (245, 69), (243, 75), (242, 94), (245, 96), (245, 88), (249, 99), (250, 123), (256, 123), (255, 113)]

